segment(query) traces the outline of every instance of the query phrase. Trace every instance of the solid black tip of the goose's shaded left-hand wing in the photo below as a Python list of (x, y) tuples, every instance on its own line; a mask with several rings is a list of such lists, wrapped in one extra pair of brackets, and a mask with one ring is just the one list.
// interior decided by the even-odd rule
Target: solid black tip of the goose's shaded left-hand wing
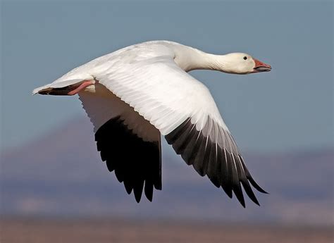
[[(123, 118), (116, 116), (95, 132), (97, 150), (106, 161), (109, 171), (114, 171), (118, 182), (123, 182), (128, 194), (132, 192), (140, 203), (144, 194), (153, 199), (154, 187), (162, 189), (160, 133), (156, 141), (144, 141), (129, 130)], [(124, 153), (125, 148), (131, 153)], [(138, 163), (142, 161), (142, 163)]]

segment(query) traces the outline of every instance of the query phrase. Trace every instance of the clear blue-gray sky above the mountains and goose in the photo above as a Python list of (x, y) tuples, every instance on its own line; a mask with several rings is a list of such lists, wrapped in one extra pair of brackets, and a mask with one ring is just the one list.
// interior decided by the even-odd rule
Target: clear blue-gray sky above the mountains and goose
[(76, 97), (35, 87), (123, 46), (168, 39), (242, 51), (270, 73), (194, 71), (248, 151), (333, 146), (333, 2), (15, 2), (1, 4), (1, 149), (85, 116)]

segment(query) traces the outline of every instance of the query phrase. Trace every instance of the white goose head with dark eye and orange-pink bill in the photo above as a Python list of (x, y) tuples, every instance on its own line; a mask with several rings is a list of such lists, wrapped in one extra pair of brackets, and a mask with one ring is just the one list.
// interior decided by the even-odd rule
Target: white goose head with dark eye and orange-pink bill
[(231, 53), (224, 56), (223, 72), (234, 74), (249, 74), (269, 72), (271, 66), (263, 63), (249, 54)]

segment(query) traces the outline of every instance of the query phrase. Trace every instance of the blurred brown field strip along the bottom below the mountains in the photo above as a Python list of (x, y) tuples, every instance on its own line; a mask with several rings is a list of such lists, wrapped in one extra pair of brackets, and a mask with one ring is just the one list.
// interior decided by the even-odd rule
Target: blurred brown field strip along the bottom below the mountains
[(190, 221), (3, 218), (1, 243), (280, 242), (330, 243), (333, 228)]

